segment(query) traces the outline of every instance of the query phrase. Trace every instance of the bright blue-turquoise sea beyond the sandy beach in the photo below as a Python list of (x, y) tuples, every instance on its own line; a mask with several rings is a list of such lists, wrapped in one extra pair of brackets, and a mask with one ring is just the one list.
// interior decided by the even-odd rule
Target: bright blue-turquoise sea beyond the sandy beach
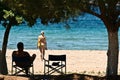
[[(23, 42), (25, 49), (37, 49), (37, 39), (44, 31), (48, 50), (107, 50), (108, 34), (104, 23), (97, 17), (84, 14), (68, 21), (48, 25), (27, 24), (13, 26), (10, 30), (7, 49), (17, 49)], [(2, 48), (5, 28), (0, 25), (0, 49)], [(120, 33), (119, 33), (120, 37)]]

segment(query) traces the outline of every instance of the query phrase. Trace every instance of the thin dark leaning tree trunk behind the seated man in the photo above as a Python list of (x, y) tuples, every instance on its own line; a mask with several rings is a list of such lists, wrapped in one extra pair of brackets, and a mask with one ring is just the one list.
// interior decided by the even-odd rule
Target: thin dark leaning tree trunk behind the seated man
[(0, 53), (0, 73), (4, 75), (8, 74), (8, 68), (7, 68), (7, 62), (6, 62), (6, 49), (7, 49), (10, 29), (11, 29), (11, 25), (8, 24), (4, 33), (2, 52)]

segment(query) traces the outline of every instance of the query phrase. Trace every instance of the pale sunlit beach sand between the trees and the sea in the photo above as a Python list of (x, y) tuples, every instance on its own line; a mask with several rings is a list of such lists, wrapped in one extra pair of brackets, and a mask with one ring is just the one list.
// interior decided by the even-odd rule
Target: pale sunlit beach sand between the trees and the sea
[[(25, 50), (37, 57), (34, 61), (35, 74), (44, 74), (44, 61), (40, 59), (39, 50)], [(13, 50), (7, 50), (6, 59), (9, 74), (11, 74), (11, 55)], [(80, 73), (90, 75), (104, 76), (107, 66), (106, 51), (101, 50), (46, 50), (45, 58), (49, 54), (61, 55), (66, 54), (67, 74)]]

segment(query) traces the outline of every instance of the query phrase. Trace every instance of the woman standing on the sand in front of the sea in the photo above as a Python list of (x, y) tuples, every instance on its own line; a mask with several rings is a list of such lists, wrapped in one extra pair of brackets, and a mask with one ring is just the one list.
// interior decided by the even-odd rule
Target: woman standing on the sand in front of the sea
[(41, 53), (41, 60), (44, 59), (45, 56), (45, 50), (47, 49), (47, 42), (46, 42), (46, 37), (44, 35), (44, 31), (41, 31), (41, 35), (38, 36), (38, 48)]

